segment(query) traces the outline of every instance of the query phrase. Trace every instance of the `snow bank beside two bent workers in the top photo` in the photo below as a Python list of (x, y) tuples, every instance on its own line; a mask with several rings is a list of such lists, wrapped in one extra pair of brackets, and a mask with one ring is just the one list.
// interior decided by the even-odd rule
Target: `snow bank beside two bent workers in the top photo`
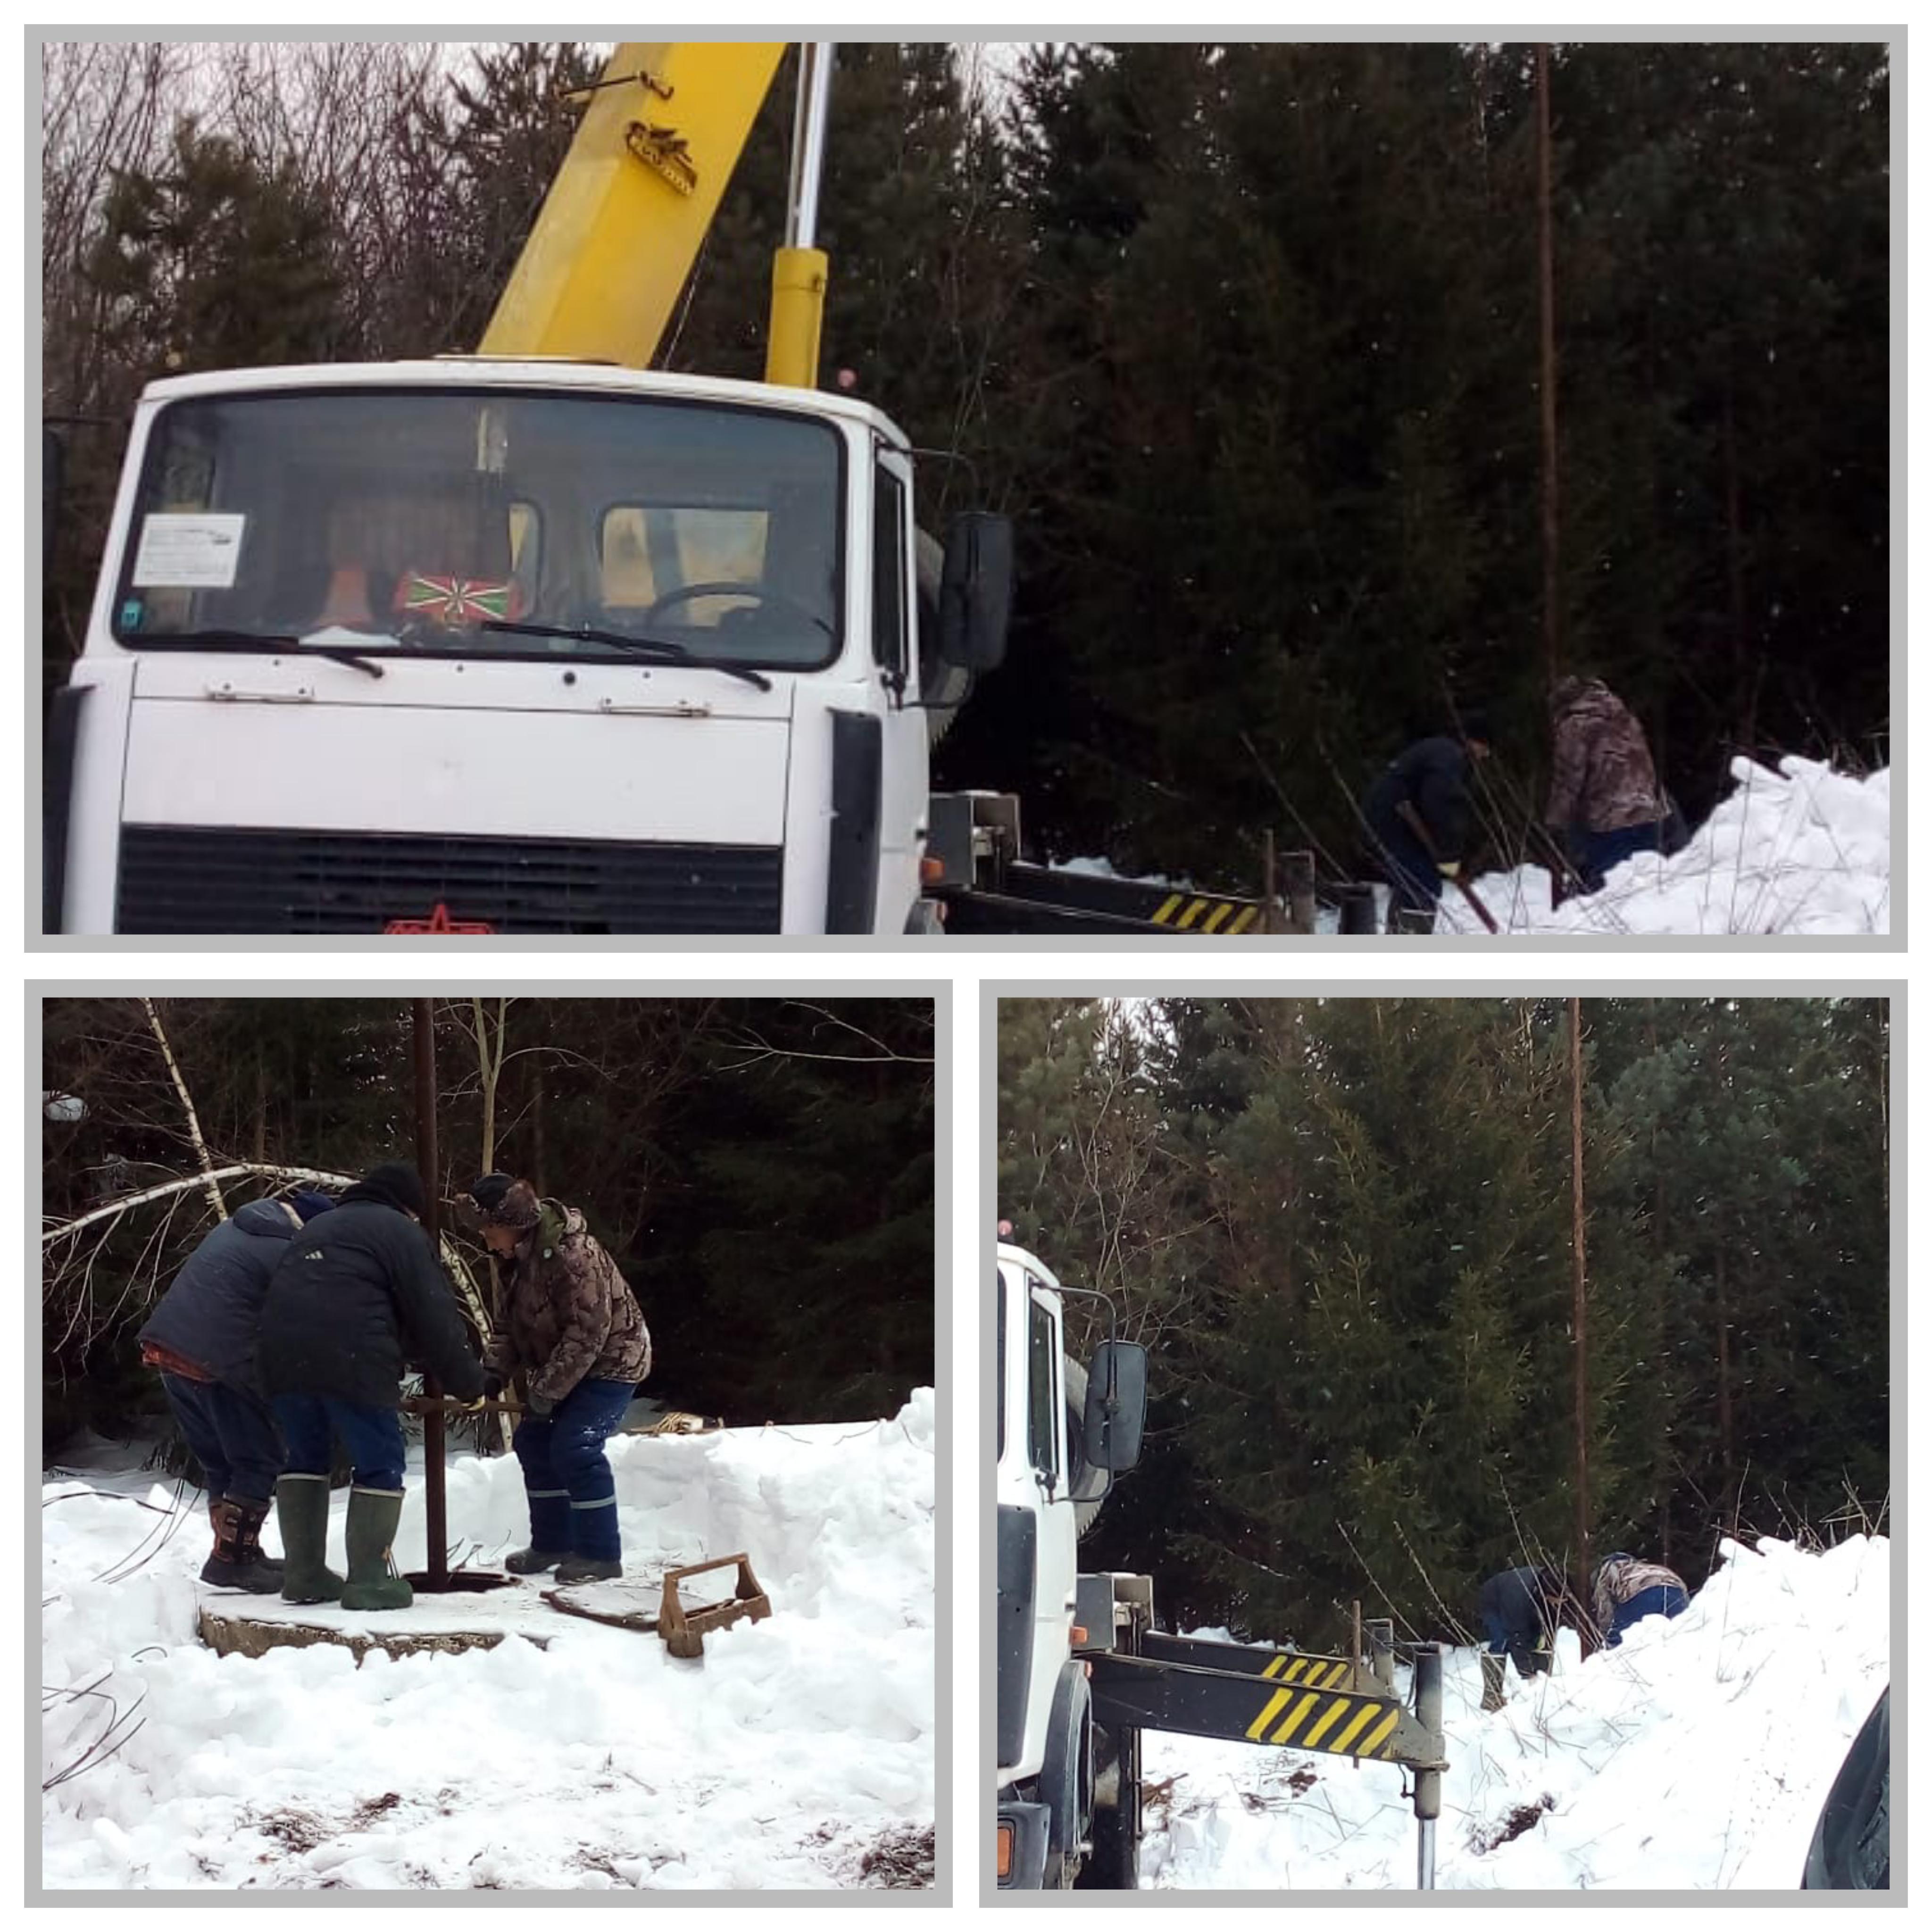
[[(1891, 773), (1808, 757), (1731, 761), (1735, 788), (1675, 858), (1642, 852), (1604, 889), (1551, 910), (1540, 866), (1484, 873), (1476, 896), (1511, 933), (1884, 933), (1891, 929)], [(1451, 887), (1437, 931), (1478, 933)]]

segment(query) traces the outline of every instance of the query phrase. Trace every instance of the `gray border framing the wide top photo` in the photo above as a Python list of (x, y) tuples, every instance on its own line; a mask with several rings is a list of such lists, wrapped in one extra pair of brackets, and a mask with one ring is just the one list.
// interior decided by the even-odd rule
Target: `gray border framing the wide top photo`
[[(487, 25), (502, 25), (500, 21), (491, 21)], [(794, 27), (798, 23), (788, 23)], [(939, 33), (941, 29), (933, 23), (922, 23), (923, 31)], [(419, 29), (359, 29), (359, 37), (375, 41), (400, 41), (400, 39), (440, 39), (448, 33), (450, 23), (439, 23), (433, 27)], [(475, 29), (471, 29), (475, 31)], [(736, 39), (744, 33), (755, 31), (752, 27), (736, 27), (724, 33), (699, 29), (696, 33), (686, 33), (686, 39), (699, 41), (723, 41)], [(837, 27), (819, 27), (817, 33), (827, 33), (831, 37), (840, 37)], [(25, 33), (25, 52), (35, 54), (43, 43), (60, 39), (97, 39), (97, 41), (137, 41), (151, 39), (158, 33), (162, 39), (170, 41), (236, 41), (249, 39), (249, 35), (238, 33), (234, 27), (162, 27), (151, 33), (141, 33), (129, 27), (93, 27), (83, 23), (64, 23), (64, 25), (29, 25)], [(1905, 174), (1907, 174), (1907, 153), (1905, 153), (1905, 124), (1909, 114), (1909, 93), (1907, 93), (1907, 27), (1905, 23), (1895, 25), (1872, 25), (1872, 27), (1816, 27), (1801, 29), (1793, 25), (1777, 23), (1774, 27), (1737, 27), (1737, 25), (1567, 25), (1559, 23), (1553, 27), (1536, 25), (1511, 25), (1507, 29), (1484, 29), (1466, 27), (1451, 29), (1439, 23), (1430, 23), (1426, 27), (1397, 27), (1381, 23), (1366, 23), (1360, 27), (1296, 27), (1293, 33), (1265, 25), (1262, 21), (1238, 21), (1217, 29), (1211, 25), (1194, 27), (1190, 25), (1184, 35), (1175, 31), (1128, 27), (1122, 31), (1101, 29), (1094, 25), (1070, 27), (1059, 33), (1032, 23), (1012, 23), (995, 25), (987, 21), (970, 23), (964, 29), (956, 29), (962, 43), (970, 41), (1041, 41), (1041, 39), (1094, 39), (1107, 37), (1117, 41), (1175, 41), (1175, 39), (1225, 39), (1225, 41), (1470, 41), (1470, 39), (1503, 39), (1503, 41), (1534, 41), (1534, 39), (1557, 39), (1557, 41), (1644, 41), (1644, 43), (1667, 43), (1667, 41), (1710, 41), (1710, 43), (1750, 43), (1750, 41), (1884, 41), (1891, 48), (1891, 450), (1889, 450), (1889, 471), (1891, 489), (1888, 504), (1888, 547), (1891, 558), (1891, 609), (1889, 609), (1889, 639), (1891, 639), (1891, 734), (1889, 734), (1889, 765), (1893, 773), (1893, 802), (1891, 802), (1891, 908), (1889, 908), (1889, 931), (1888, 933), (1665, 933), (1665, 935), (1633, 935), (1629, 939), (1617, 939), (1611, 935), (1519, 935), (1507, 941), (1509, 952), (1503, 954), (1507, 962), (1515, 962), (1526, 956), (1544, 956), (1549, 952), (1569, 952), (1577, 947), (1602, 947), (1609, 956), (1617, 952), (1633, 951), (1654, 951), (1654, 952), (1789, 952), (1789, 954), (1810, 954), (1810, 952), (1835, 952), (1851, 951), (1857, 954), (1891, 954), (1907, 951), (1909, 933), (1909, 792), (1905, 788), (1905, 775), (1899, 765), (1905, 763), (1905, 748), (1909, 742), (1909, 730), (1905, 723), (1905, 456), (1907, 456), (1907, 404), (1905, 404), (1905, 365), (1907, 365), (1907, 284), (1909, 278), (1901, 274), (1907, 269), (1905, 259), (1905, 226), (1907, 226), (1907, 207), (1905, 207)], [(280, 27), (276, 39), (284, 41), (332, 41), (346, 39), (340, 29), (330, 31), (325, 27)], [(877, 23), (858, 25), (846, 29), (844, 39), (848, 41), (881, 41), (887, 35), (879, 33)], [(39, 205), (39, 149), (35, 147), (35, 131), (39, 128), (39, 108), (41, 108), (41, 71), (37, 60), (23, 60), (25, 70), (25, 114), (23, 114), (23, 139), (27, 143), (27, 158), (23, 168), (23, 182), (27, 193), (27, 214), (23, 224), (23, 236), (31, 247), (39, 236), (41, 224), (41, 205)], [(35, 261), (27, 263), (27, 286), (33, 286), (33, 276), (39, 272)], [(33, 388), (35, 365), (29, 359), (27, 365), (27, 415), (25, 421), (35, 421), (39, 415), (39, 396)], [(23, 502), (41, 500), (41, 471), (39, 471), (39, 444), (27, 452), (27, 479), (23, 487)], [(23, 543), (27, 576), (27, 612), (29, 612), (29, 636), (37, 634), (39, 624), (35, 612), (41, 609), (41, 554), (39, 549), (27, 541)], [(37, 829), (41, 825), (41, 765), (43, 765), (43, 736), (39, 728), (41, 703), (39, 703), (39, 659), (27, 657), (23, 667), (23, 678), (27, 680), (27, 701), (21, 713), (27, 721), (27, 757), (23, 761), (23, 782), (27, 786), (27, 796), (23, 802), (21, 827), (23, 837), (31, 842), (27, 852), (27, 866), (23, 867), (23, 920), (21, 933), (25, 935), (25, 949), (29, 954), (54, 954), (54, 956), (85, 956), (91, 952), (209, 952), (209, 951), (230, 951), (230, 952), (305, 952), (305, 954), (327, 954), (327, 952), (375, 952), (375, 935), (371, 939), (359, 937), (313, 937), (303, 939), (299, 935), (280, 937), (280, 935), (236, 935), (236, 937), (216, 937), (216, 935), (155, 935), (141, 937), (137, 941), (97, 933), (97, 935), (48, 935), (41, 931), (41, 840)], [(1024, 806), (1024, 800), (1022, 800)], [(213, 947), (211, 947), (213, 937)], [(1088, 937), (1028, 937), (1028, 935), (987, 935), (987, 937), (956, 937), (947, 941), (947, 956), (956, 958), (968, 968), (978, 966), (978, 962), (987, 954), (997, 954), (1010, 958), (1051, 954), (1072, 945), (1082, 954), (1099, 954), (1105, 960), (1119, 958), (1122, 952), (1148, 952), (1155, 956), (1161, 947), (1175, 943), (1171, 935), (1140, 935), (1140, 933), (1121, 933), (1121, 935), (1088, 935)], [(781, 954), (784, 958), (796, 954), (810, 954), (817, 951), (850, 951), (852, 941), (837, 935), (796, 935), (796, 937), (765, 937), (765, 939), (723, 939), (719, 935), (661, 935), (651, 937), (645, 945), (638, 943), (638, 937), (599, 937), (599, 935), (527, 935), (518, 939), (408, 939), (396, 937), (386, 941), (392, 949), (394, 958), (404, 960), (415, 952), (433, 952), (437, 958), (448, 958), (452, 951), (469, 951), (471, 956), (479, 960), (502, 960), (506, 952), (624, 952), (639, 954), (647, 952), (659, 954), (680, 954), (680, 952), (715, 952), (721, 945), (728, 945), (734, 954), (744, 956), (765, 956)], [(879, 933), (866, 941), (867, 951), (873, 952), (896, 952), (908, 954), (916, 952), (922, 956), (922, 964), (931, 960), (927, 947), (929, 939), (910, 937), (902, 933)], [(1254, 949), (1264, 956), (1279, 958), (1285, 952), (1294, 952), (1306, 941), (1291, 937), (1256, 937), (1252, 941)], [(1430, 943), (1430, 954), (1435, 952), (1474, 952), (1486, 947), (1493, 947), (1493, 941), (1482, 933), (1470, 933), (1463, 937), (1443, 935)], [(1374, 949), (1370, 939), (1341, 939), (1329, 937), (1321, 941), (1320, 958), (1325, 962), (1339, 954), (1356, 954), (1364, 949)], [(1225, 954), (1221, 954), (1225, 956)], [(1302, 954), (1308, 956), (1308, 954)], [(1503, 966), (1509, 970), (1509, 966)]]

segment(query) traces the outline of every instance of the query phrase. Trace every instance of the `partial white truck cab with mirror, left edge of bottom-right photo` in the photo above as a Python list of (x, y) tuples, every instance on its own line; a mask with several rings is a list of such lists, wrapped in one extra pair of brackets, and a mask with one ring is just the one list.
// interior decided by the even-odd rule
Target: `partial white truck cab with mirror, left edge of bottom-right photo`
[[(1109, 1339), (1066, 1356), (1065, 1294), (1026, 1248), (995, 1262), (997, 1874), (1070, 1888), (1092, 1853), (1095, 1733), (1082, 1629), (1080, 1532), (1140, 1451), (1146, 1358)], [(1111, 1602), (1111, 1594), (1109, 1594)]]

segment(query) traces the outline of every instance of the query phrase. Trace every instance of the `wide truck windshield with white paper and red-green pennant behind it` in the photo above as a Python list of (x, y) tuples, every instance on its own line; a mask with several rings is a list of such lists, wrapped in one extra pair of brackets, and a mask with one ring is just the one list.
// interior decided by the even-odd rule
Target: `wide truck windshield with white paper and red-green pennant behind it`
[(112, 630), (371, 657), (624, 659), (636, 639), (808, 670), (840, 647), (840, 466), (825, 423), (728, 404), (184, 398), (147, 444)]

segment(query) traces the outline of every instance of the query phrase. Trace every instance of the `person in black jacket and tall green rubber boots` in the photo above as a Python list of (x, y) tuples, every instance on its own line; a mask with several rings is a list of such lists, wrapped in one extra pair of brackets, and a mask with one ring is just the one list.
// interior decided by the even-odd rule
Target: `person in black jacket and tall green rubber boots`
[[(390, 1548), (402, 1519), (404, 1362), (450, 1395), (483, 1393), (462, 1312), (429, 1238), (423, 1182), (384, 1161), (325, 1221), (290, 1242), (261, 1316), (261, 1374), (288, 1437), (274, 1492), (282, 1526), (282, 1596), (344, 1609), (404, 1609), (408, 1578)], [(328, 1534), (330, 1435), (350, 1457), (348, 1578), (323, 1561)]]

